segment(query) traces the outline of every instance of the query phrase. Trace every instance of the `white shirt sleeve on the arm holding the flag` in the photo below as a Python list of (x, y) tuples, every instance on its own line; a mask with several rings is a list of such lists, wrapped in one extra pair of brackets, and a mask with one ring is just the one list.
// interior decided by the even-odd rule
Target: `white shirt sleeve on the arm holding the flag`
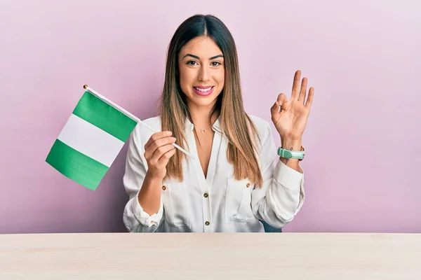
[(123, 185), (129, 200), (124, 208), (123, 223), (129, 232), (156, 232), (163, 222), (162, 200), (159, 211), (153, 215), (143, 211), (138, 201), (138, 193), (147, 172), (147, 162), (141, 156), (145, 153), (145, 144), (141, 142), (140, 135), (140, 127), (137, 125), (128, 141)]

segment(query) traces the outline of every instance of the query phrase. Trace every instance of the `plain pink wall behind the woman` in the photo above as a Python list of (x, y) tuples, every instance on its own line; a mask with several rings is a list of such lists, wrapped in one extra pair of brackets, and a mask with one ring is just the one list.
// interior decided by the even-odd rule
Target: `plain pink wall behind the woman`
[(420, 1), (255, 3), (1, 1), (0, 233), (125, 231), (126, 146), (95, 192), (45, 158), (85, 83), (154, 116), (166, 48), (194, 13), (232, 31), (248, 113), (270, 121), (296, 69), (316, 89), (307, 200), (284, 231), (421, 232)]

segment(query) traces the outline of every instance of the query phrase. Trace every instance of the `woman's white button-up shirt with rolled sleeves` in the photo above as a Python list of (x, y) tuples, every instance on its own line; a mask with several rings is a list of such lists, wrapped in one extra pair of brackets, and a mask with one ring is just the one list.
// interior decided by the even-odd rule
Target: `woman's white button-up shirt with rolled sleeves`
[[(227, 140), (215, 131), (208, 174), (205, 178), (194, 141), (194, 125), (186, 119), (186, 136), (196, 160), (185, 157), (184, 180), (163, 181), (159, 211), (149, 216), (138, 202), (138, 193), (147, 172), (145, 144), (152, 132), (139, 123), (128, 143), (123, 184), (129, 196), (123, 222), (129, 232), (264, 232), (260, 220), (283, 228), (293, 220), (305, 199), (304, 175), (279, 160), (266, 120), (250, 116), (261, 139), (258, 160), (263, 186), (255, 188), (248, 179), (234, 179), (234, 166), (227, 161)], [(143, 120), (161, 131), (161, 118)], [(300, 167), (301, 168), (301, 167)], [(301, 169), (302, 170), (302, 169)]]

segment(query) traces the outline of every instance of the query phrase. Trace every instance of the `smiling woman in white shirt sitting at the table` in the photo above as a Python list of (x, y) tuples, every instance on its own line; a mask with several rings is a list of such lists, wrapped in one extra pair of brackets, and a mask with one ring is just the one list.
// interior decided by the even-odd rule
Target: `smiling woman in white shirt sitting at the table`
[[(271, 108), (282, 148), (302, 151), (312, 103), (295, 73)], [(263, 232), (283, 228), (304, 202), (297, 158), (279, 158), (267, 121), (243, 109), (236, 46), (225, 25), (194, 15), (168, 48), (160, 116), (131, 135), (123, 183), (130, 232)], [(177, 143), (196, 157), (174, 148)]]

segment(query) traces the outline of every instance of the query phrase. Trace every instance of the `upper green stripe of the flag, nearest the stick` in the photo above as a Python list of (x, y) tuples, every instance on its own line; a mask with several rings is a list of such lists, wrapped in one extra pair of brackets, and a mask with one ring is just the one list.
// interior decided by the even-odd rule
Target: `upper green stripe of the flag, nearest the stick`
[(135, 120), (88, 91), (83, 94), (73, 113), (123, 142), (137, 125)]

